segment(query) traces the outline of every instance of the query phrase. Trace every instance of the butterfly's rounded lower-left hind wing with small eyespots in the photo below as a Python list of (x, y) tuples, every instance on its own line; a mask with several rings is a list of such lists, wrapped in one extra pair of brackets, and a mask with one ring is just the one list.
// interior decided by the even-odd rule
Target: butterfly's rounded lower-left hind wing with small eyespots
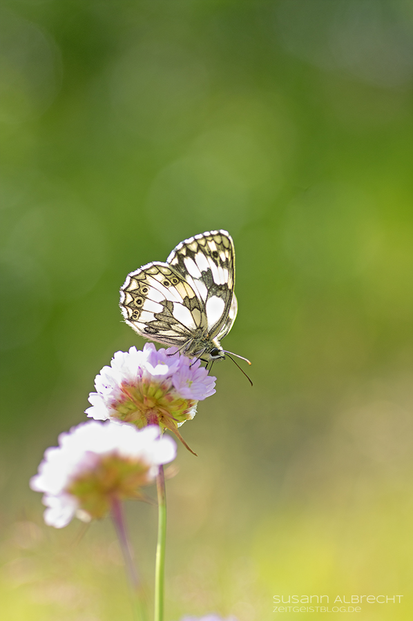
[(138, 334), (177, 347), (190, 344), (197, 328), (206, 328), (204, 306), (173, 266), (153, 262), (131, 272), (120, 290), (126, 324)]

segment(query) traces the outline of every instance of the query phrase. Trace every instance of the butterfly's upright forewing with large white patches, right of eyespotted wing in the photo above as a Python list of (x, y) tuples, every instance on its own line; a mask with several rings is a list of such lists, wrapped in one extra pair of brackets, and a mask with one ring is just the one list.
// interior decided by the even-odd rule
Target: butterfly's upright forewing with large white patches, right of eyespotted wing
[(231, 235), (226, 230), (211, 230), (185, 239), (172, 250), (166, 263), (203, 304), (210, 339), (227, 335), (237, 311)]

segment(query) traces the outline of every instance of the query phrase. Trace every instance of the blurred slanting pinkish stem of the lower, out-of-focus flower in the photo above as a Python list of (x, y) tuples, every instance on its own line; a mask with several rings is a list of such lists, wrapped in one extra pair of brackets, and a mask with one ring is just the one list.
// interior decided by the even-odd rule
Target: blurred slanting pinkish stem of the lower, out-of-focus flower
[(113, 497), (112, 499), (111, 516), (117, 539), (119, 540), (119, 546), (124, 557), (126, 575), (128, 576), (128, 583), (131, 590), (134, 618), (135, 621), (146, 621), (147, 615), (144, 592), (135, 563), (133, 562), (131, 545), (129, 544), (128, 535), (126, 533), (122, 502), (120, 502), (119, 498)]

